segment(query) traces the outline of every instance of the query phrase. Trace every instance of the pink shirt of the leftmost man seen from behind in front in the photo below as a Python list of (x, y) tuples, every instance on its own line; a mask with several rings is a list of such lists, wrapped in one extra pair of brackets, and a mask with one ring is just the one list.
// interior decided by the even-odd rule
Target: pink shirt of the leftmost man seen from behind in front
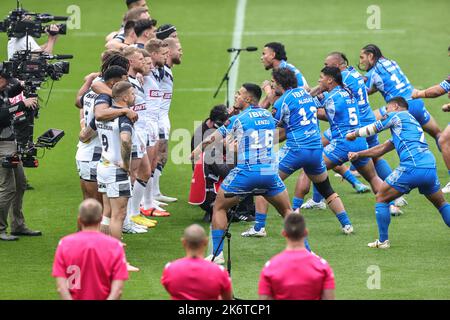
[(105, 300), (113, 280), (127, 280), (122, 244), (97, 231), (64, 237), (56, 249), (52, 276), (67, 278), (74, 300)]

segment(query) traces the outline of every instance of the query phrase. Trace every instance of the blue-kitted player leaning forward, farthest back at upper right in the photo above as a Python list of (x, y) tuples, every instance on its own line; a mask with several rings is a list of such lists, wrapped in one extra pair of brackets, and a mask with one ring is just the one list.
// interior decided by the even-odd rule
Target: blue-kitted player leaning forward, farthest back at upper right
[(423, 100), (411, 99), (414, 88), (398, 64), (385, 58), (376, 45), (369, 44), (361, 49), (359, 68), (367, 71), (365, 77), (369, 94), (379, 91), (386, 102), (394, 97), (405, 98), (408, 102), (409, 113), (416, 118), (423, 130), (436, 140), (440, 150), (439, 136), (441, 130), (436, 120), (425, 108)]

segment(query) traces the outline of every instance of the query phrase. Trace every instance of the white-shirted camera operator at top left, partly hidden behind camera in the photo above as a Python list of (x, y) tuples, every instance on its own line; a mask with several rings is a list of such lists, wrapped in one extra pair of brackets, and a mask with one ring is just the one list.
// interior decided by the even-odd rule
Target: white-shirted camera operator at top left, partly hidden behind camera
[[(24, 20), (27, 19), (27, 16), (25, 16)], [(42, 46), (38, 45), (36, 43), (36, 40), (34, 40), (31, 36), (24, 36), (22, 38), (15, 38), (12, 37), (8, 41), (8, 60), (12, 58), (15, 52), (20, 50), (28, 50), (31, 51), (44, 51), (48, 54), (53, 53), (53, 46), (56, 43), (56, 40), (58, 39), (58, 33), (59, 33), (59, 27), (56, 24), (51, 24), (47, 29), (46, 33), (48, 35), (48, 41), (44, 43)], [(27, 45), (27, 39), (28, 39), (28, 45)]]

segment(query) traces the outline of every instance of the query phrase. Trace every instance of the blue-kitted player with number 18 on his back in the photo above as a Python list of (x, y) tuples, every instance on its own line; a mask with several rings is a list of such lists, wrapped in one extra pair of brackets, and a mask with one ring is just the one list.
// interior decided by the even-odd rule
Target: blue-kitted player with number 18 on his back
[[(213, 252), (218, 252), (214, 262), (224, 263), (223, 242), (227, 226), (227, 211), (239, 202), (239, 197), (225, 198), (225, 193), (242, 194), (254, 189), (267, 190), (264, 197), (284, 217), (292, 212), (289, 195), (278, 175), (278, 163), (274, 150), (275, 119), (266, 109), (258, 107), (261, 88), (245, 83), (235, 96), (236, 109), (242, 110), (231, 117), (225, 125), (208, 136), (191, 154), (198, 158), (202, 150), (213, 142), (227, 138), (237, 150), (237, 164), (217, 193), (212, 216)], [(219, 246), (220, 244), (220, 246)], [(211, 260), (212, 255), (207, 259)]]

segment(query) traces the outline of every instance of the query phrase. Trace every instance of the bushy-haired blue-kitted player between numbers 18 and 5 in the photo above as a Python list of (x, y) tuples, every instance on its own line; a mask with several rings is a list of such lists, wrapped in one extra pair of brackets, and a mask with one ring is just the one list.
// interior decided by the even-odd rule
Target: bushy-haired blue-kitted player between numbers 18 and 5
[[(273, 117), (282, 129), (280, 141), (286, 144), (279, 151), (278, 172), (282, 180), (303, 168), (306, 175), (326, 199), (336, 214), (344, 233), (352, 232), (342, 200), (334, 192), (328, 180), (328, 172), (322, 158), (323, 147), (317, 123), (317, 104), (315, 99), (303, 88), (298, 87), (294, 72), (287, 68), (272, 72), (272, 87), (280, 98), (272, 109)], [(293, 206), (300, 207), (303, 199), (294, 197)], [(256, 223), (242, 233), (244, 237), (266, 236), (265, 222), (269, 204), (262, 197), (256, 199)]]

